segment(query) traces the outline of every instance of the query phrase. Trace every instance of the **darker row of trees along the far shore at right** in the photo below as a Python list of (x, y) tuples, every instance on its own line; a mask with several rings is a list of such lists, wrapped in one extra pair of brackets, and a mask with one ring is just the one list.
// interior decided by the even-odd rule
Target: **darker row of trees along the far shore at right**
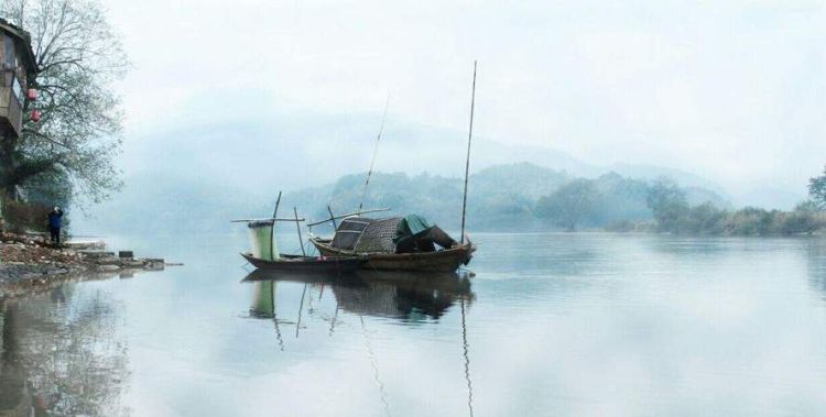
[(757, 207), (731, 210), (720, 200), (697, 202), (696, 196), (689, 196), (692, 189), (669, 178), (648, 184), (608, 174), (561, 186), (539, 199), (535, 212), (567, 231), (597, 227), (678, 234), (812, 234), (826, 227), (826, 169), (809, 180), (808, 190), (811, 199), (791, 211)]

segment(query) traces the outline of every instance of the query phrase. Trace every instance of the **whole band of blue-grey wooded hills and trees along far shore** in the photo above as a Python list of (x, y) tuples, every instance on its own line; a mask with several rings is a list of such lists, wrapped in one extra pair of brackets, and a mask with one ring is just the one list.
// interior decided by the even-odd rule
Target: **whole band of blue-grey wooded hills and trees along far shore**
[[(361, 202), (366, 173), (346, 175), (332, 184), (285, 193), (282, 209), (297, 207), (302, 217), (327, 218), (327, 206), (337, 213), (355, 211)], [(227, 227), (227, 219), (272, 215), (274, 196), (242, 198), (233, 189), (219, 189), (208, 180), (161, 183), (150, 178), (132, 184), (154, 193), (151, 198), (113, 201), (99, 223), (124, 227), (124, 212), (135, 207), (155, 213), (141, 230), (209, 230)], [(459, 228), (463, 179), (438, 175), (373, 173), (365, 208), (389, 207), (374, 216), (417, 213), (448, 231)], [(761, 208), (733, 209), (725, 198), (706, 188), (681, 187), (673, 180), (643, 180), (608, 173), (596, 178), (520, 163), (485, 168), (470, 177), (468, 230), (669, 232), (683, 234), (773, 235), (813, 233), (822, 229), (826, 208), (826, 172), (812, 178), (811, 201), (791, 211)], [(204, 201), (191, 205), (186, 201)], [(178, 209), (170, 209), (170, 207)], [(287, 230), (293, 232), (292, 229)], [(318, 234), (332, 230), (319, 226)]]

